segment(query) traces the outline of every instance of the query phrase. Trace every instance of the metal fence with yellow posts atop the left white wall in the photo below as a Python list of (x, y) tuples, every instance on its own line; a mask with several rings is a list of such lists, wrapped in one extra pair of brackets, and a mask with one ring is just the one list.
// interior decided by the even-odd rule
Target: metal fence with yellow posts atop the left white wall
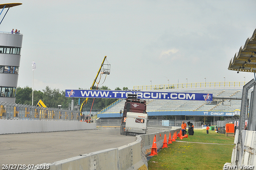
[(0, 102), (0, 119), (79, 121), (79, 115), (80, 112), (75, 110)]

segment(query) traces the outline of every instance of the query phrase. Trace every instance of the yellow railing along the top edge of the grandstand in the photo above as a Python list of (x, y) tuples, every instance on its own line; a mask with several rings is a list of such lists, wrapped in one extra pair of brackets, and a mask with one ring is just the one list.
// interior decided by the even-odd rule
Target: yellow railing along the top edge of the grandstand
[(180, 84), (158, 84), (133, 86), (133, 90), (160, 90), (171, 88), (202, 88), (202, 87), (242, 87), (246, 82), (201, 82), (201, 83), (180, 83)]

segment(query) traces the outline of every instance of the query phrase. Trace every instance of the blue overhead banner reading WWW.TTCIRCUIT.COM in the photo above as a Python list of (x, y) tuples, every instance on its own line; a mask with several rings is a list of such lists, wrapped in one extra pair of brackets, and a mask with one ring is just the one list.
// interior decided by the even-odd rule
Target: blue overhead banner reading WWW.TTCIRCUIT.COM
[(166, 100), (205, 100), (212, 101), (212, 94), (176, 93), (176, 92), (148, 92), (122, 90), (66, 90), (66, 97), (76, 98), (127, 98), (128, 94), (137, 94), (139, 99)]

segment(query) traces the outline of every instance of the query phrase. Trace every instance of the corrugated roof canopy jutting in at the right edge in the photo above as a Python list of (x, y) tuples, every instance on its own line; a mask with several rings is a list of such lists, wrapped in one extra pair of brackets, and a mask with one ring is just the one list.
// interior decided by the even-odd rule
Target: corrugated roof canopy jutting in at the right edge
[(256, 29), (230, 60), (228, 70), (236, 70), (237, 73), (256, 72)]

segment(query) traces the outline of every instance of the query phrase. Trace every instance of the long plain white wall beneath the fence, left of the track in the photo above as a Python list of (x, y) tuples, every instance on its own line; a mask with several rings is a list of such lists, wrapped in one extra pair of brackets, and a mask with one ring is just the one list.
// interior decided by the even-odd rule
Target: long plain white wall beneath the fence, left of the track
[(96, 129), (96, 123), (78, 121), (0, 120), (0, 134)]

